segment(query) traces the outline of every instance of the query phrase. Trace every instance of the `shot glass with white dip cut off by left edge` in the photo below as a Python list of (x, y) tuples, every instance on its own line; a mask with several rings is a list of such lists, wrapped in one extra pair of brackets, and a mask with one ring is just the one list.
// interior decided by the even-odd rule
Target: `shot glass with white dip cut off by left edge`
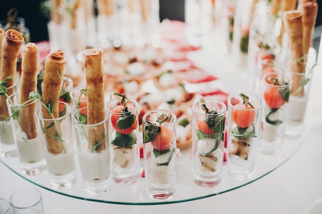
[[(16, 90), (16, 83), (6, 88), (8, 95), (11, 95)], [(0, 89), (0, 92), (3, 92)], [(9, 111), (7, 106), (7, 96), (0, 95), (0, 155), (2, 157), (15, 157), (17, 156), (17, 147), (15, 144), (15, 134), (12, 130), (11, 120), (9, 118)]]

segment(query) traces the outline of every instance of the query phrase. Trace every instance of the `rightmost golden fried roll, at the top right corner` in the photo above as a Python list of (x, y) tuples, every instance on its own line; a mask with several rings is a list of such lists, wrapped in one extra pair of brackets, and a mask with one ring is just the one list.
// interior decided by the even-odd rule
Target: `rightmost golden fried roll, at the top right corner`
[(316, 2), (306, 2), (298, 5), (298, 9), (303, 14), (303, 53), (305, 55), (309, 53), (309, 49), (312, 46), (313, 29), (316, 22), (317, 8), (318, 6)]

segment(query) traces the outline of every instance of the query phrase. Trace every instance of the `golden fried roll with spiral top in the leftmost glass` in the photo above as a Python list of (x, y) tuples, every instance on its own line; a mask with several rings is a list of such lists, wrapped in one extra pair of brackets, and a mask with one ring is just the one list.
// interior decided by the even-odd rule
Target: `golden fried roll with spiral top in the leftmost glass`
[[(6, 77), (11, 76), (12, 80), (7, 79), (8, 82), (5, 86), (11, 87), (15, 83), (15, 73), (17, 71), (17, 57), (20, 53), (22, 44), (24, 43), (24, 37), (22, 33), (16, 30), (7, 30), (5, 33), (5, 39), (3, 41), (1, 67), (0, 67), (0, 81), (2, 82)], [(10, 96), (14, 92), (14, 88), (8, 89), (7, 94)], [(0, 96), (0, 115), (6, 117), (9, 116), (8, 107), (6, 103), (7, 97)], [(0, 120), (4, 120), (2, 116)]]

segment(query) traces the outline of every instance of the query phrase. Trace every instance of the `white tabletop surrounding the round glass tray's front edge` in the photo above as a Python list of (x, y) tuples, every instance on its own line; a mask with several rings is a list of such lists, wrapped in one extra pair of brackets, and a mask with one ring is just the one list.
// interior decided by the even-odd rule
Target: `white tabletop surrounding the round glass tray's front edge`
[[(320, 44), (322, 50), (322, 44)], [(321, 52), (321, 51), (320, 51)], [(315, 69), (307, 120), (311, 127), (306, 142), (289, 161), (262, 179), (242, 188), (202, 200), (166, 205), (116, 205), (83, 201), (35, 186), (0, 163), (0, 198), (33, 186), (43, 193), (45, 214), (56, 213), (247, 213), (279, 214), (302, 212), (322, 198), (322, 54)], [(322, 213), (322, 210), (315, 213)], [(311, 214), (311, 213), (310, 213)], [(312, 213), (313, 214), (313, 213)]]

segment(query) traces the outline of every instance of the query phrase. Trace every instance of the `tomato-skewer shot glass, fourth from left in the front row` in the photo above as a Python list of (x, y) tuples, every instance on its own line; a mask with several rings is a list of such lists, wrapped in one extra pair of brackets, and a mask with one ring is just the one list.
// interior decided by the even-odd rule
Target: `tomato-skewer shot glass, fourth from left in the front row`
[(228, 96), (227, 166), (238, 180), (252, 176), (261, 125), (263, 102), (253, 93)]

